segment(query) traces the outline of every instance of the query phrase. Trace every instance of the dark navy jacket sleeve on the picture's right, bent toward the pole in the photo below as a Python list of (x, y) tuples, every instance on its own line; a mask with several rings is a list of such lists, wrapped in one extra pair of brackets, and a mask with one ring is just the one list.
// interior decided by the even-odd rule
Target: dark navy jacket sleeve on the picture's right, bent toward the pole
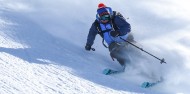
[(115, 16), (114, 22), (118, 26), (118, 31), (121, 36), (131, 32), (131, 25), (124, 17)]

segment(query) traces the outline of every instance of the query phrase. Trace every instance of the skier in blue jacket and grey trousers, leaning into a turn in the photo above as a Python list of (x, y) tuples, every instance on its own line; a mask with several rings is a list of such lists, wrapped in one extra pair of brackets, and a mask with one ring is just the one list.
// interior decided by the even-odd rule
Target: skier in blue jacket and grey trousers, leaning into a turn
[(95, 36), (99, 34), (103, 38), (102, 43), (105, 47), (104, 40), (106, 41), (112, 59), (117, 59), (124, 71), (126, 62), (130, 61), (125, 55), (128, 44), (122, 39), (134, 41), (130, 32), (130, 24), (119, 12), (112, 11), (110, 7), (100, 3), (97, 9), (96, 20), (88, 33), (85, 49), (87, 51), (92, 49), (91, 46), (94, 43)]

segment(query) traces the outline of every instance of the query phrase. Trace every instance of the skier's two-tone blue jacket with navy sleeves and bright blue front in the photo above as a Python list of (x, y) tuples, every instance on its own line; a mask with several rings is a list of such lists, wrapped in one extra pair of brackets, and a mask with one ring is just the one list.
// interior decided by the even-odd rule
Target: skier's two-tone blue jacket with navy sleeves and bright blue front
[[(115, 17), (113, 19), (113, 22), (117, 26), (117, 30), (116, 31), (119, 32), (119, 36), (125, 36), (125, 35), (127, 35), (127, 33), (129, 33), (131, 31), (130, 24), (123, 18), (123, 16), (117, 16), (117, 15), (115, 15)], [(99, 22), (99, 24), (101, 24), (101, 23)], [(107, 24), (101, 24), (101, 25), (105, 26), (106, 28), (109, 27), (109, 25), (107, 25)], [(112, 37), (110, 35), (111, 31), (112, 31), (112, 29), (110, 31), (108, 31), (108, 32), (103, 33), (103, 36), (102, 36), (105, 39), (105, 41), (107, 42), (108, 45), (110, 45), (112, 42), (120, 42), (120, 41), (122, 41), (122, 40), (115, 39), (115, 37)], [(86, 45), (92, 46), (94, 44), (95, 37), (96, 37), (97, 34), (99, 34), (98, 32), (99, 31), (97, 29), (96, 23), (94, 22), (92, 24), (90, 30), (89, 30), (89, 34), (88, 34), (88, 37), (87, 37), (87, 43), (86, 43)]]

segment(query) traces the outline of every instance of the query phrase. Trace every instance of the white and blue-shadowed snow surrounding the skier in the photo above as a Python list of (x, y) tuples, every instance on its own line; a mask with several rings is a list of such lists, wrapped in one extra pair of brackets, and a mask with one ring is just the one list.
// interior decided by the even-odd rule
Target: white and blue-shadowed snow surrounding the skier
[[(120, 69), (96, 37), (86, 37), (100, 1), (0, 0), (0, 94), (188, 94), (190, 30), (188, 0), (101, 1), (120, 11), (139, 45), (167, 64), (142, 53)], [(143, 81), (164, 82), (143, 89)]]

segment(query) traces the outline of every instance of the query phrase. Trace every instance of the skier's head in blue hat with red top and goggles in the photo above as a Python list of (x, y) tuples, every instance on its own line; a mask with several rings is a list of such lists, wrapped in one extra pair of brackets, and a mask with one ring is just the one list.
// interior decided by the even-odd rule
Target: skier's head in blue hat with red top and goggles
[(110, 12), (108, 7), (106, 7), (105, 4), (100, 3), (98, 4), (98, 9), (97, 9), (97, 16), (100, 22), (102, 23), (107, 23), (110, 20)]

